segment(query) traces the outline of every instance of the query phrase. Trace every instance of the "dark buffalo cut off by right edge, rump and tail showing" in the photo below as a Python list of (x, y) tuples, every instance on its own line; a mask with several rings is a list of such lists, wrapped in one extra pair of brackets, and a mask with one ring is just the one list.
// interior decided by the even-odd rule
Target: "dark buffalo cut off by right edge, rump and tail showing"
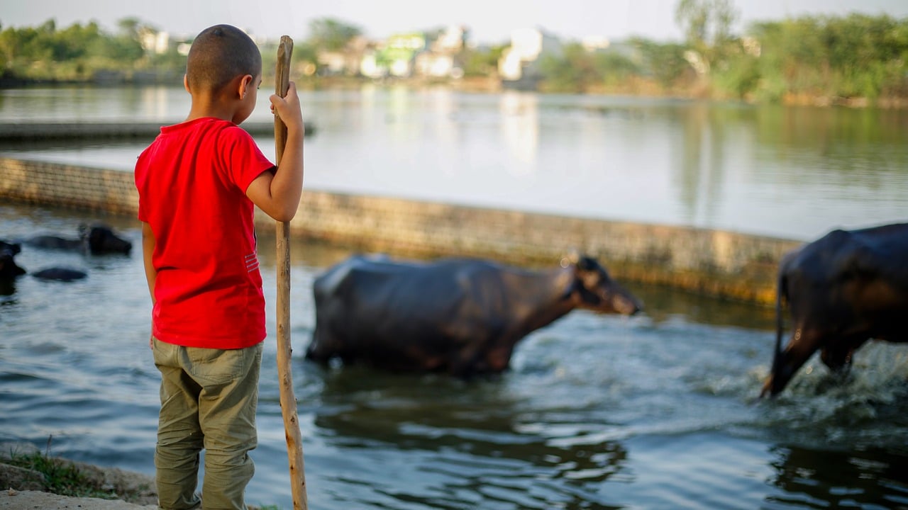
[[(788, 302), (792, 336), (782, 350)], [(833, 371), (850, 366), (868, 339), (908, 341), (908, 223), (834, 230), (779, 264), (772, 373), (775, 396), (817, 349)]]

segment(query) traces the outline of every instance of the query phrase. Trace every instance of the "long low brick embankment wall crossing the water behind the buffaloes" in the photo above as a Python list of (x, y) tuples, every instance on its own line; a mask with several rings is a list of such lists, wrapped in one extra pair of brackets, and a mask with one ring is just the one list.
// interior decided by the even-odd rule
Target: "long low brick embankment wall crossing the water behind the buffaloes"
[[(0, 159), (0, 197), (133, 215), (132, 172)], [(264, 214), (260, 228), (273, 228)], [(775, 301), (778, 260), (801, 243), (720, 230), (601, 221), (422, 201), (304, 191), (291, 235), (363, 251), (488, 257), (528, 265), (571, 250), (618, 280), (761, 304)]]

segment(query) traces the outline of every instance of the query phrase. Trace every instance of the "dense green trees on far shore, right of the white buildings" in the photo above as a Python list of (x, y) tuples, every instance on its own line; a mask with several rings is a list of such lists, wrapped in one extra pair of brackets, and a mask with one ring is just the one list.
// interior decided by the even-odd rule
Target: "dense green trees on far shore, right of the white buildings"
[(730, 0), (681, 0), (682, 43), (632, 38), (611, 52), (577, 43), (543, 62), (564, 92), (700, 95), (765, 103), (908, 100), (908, 19), (804, 15), (730, 30)]

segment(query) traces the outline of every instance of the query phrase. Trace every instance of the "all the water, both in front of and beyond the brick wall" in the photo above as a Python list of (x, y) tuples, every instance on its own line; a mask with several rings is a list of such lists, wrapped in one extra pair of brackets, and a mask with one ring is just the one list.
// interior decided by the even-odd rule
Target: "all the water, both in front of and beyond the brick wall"
[[(3, 91), (0, 117), (183, 114), (168, 106), (182, 97), (171, 89), (70, 91)], [(146, 95), (173, 99), (143, 106)], [(903, 113), (379, 88), (303, 97), (318, 126), (306, 148), (313, 188), (790, 237), (904, 213)], [(256, 114), (267, 118), (267, 107)], [(5, 149), (129, 171), (139, 145)], [(0, 238), (74, 235), (98, 219), (138, 247), (131, 218), (8, 203)], [(269, 337), (248, 501), (289, 509), (275, 262), (262, 238)], [(500, 378), (324, 369), (301, 357), (311, 282), (349, 253), (302, 243), (292, 253), (293, 382), (312, 508), (908, 507), (904, 346), (862, 348), (844, 379), (811, 359), (763, 401), (771, 310), (629, 285), (645, 313), (574, 312), (519, 344)], [(53, 455), (152, 474), (159, 376), (141, 257), (26, 248), (17, 260), (89, 277), (26, 275), (0, 295), (0, 442), (44, 450), (50, 438)]]

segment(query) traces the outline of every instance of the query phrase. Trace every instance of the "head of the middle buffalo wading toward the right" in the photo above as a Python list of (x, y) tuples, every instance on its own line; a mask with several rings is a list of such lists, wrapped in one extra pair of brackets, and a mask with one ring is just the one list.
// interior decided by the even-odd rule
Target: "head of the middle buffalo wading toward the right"
[(598, 260), (572, 255), (562, 259), (561, 265), (574, 270), (570, 294), (578, 309), (622, 315), (634, 315), (643, 309), (640, 300), (612, 280)]

